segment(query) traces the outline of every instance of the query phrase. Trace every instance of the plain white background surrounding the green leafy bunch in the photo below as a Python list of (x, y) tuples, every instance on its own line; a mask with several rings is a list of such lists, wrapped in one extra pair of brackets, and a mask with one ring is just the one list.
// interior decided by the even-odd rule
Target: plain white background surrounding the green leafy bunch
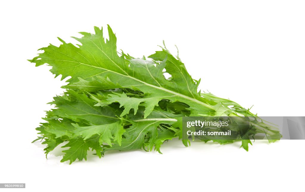
[[(109, 3), (111, 2), (111, 3)], [(0, 183), (18, 191), (303, 190), (304, 140), (230, 145), (170, 141), (157, 152), (106, 153), (60, 163), (34, 130), (61, 94), (48, 66), (26, 59), (56, 37), (110, 24), (118, 49), (148, 56), (165, 40), (200, 88), (260, 116), (305, 116), (304, 1), (9, 1), (1, 3)], [(12, 189), (11, 189), (12, 190)], [(14, 191), (14, 190), (12, 190)]]

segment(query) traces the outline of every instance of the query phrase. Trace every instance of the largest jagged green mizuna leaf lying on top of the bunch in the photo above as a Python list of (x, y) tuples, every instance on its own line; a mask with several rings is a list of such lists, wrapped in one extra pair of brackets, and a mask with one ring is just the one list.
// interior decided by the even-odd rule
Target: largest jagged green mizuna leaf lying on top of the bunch
[[(193, 111), (200, 111), (204, 114), (214, 112), (209, 101), (197, 93), (198, 83), (191, 78), (183, 63), (174, 59), (169, 52), (162, 55), (164, 57), (162, 62), (143, 59), (127, 60), (124, 55), (117, 55), (117, 39), (109, 26), (109, 40), (106, 40), (106, 43), (103, 32), (98, 27), (95, 27), (95, 34), (84, 32), (81, 34), (84, 37), (74, 37), (82, 44), (78, 45), (79, 48), (59, 39), (63, 44), (59, 47), (51, 44), (46, 48), (41, 48), (44, 53), (30, 61), (36, 63), (36, 66), (48, 63), (52, 66), (51, 72), (56, 76), (62, 75), (62, 79), (71, 76), (68, 82), (74, 88), (88, 90), (84, 83), (93, 80), (95, 84), (88, 84), (88, 87), (94, 86), (95, 89), (124, 87), (142, 91), (143, 98), (151, 99), (150, 107), (157, 105), (161, 99), (169, 99), (185, 102)], [(164, 68), (172, 73), (173, 80), (165, 79)], [(178, 80), (180, 77), (183, 80)], [(81, 82), (82, 87), (73, 84), (79, 82), (79, 78), (85, 80)], [(97, 87), (98, 83), (100, 83), (100, 88)], [(149, 115), (150, 111), (150, 109), (146, 111), (145, 117)]]

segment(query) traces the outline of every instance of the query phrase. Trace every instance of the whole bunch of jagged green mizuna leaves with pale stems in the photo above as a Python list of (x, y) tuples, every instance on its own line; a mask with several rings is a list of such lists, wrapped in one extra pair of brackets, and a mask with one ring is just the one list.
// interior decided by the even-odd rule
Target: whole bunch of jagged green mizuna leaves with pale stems
[[(29, 60), (36, 66), (52, 66), (50, 71), (62, 75), (61, 80), (70, 76), (64, 94), (50, 102), (55, 108), (36, 128), (41, 135), (36, 140), (47, 144), (46, 155), (63, 142), (68, 149), (61, 162), (70, 164), (86, 160), (88, 150), (98, 157), (111, 150), (160, 152), (164, 141), (182, 139), (184, 116), (255, 116), (233, 101), (198, 92), (200, 80), (192, 79), (180, 58), (170, 54), (165, 45), (149, 60), (137, 59), (117, 52), (117, 38), (109, 26), (106, 41), (102, 29), (94, 29), (95, 34), (81, 32), (83, 37), (73, 37), (81, 45), (59, 38), (63, 43), (59, 47), (50, 44)], [(265, 133), (269, 142), (281, 137), (258, 120), (253, 130), (249, 137)], [(248, 151), (250, 139), (238, 140)], [(225, 144), (235, 140), (213, 141)], [(188, 146), (190, 141), (182, 139), (182, 143)]]

